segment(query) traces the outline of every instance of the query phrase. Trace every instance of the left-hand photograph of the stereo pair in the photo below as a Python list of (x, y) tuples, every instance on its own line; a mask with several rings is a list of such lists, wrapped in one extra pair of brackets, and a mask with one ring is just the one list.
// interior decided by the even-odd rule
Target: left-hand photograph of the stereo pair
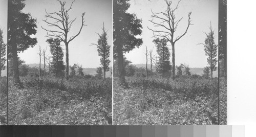
[(8, 1), (1, 119), (7, 107), (10, 125), (111, 125), (112, 11), (111, 0)]

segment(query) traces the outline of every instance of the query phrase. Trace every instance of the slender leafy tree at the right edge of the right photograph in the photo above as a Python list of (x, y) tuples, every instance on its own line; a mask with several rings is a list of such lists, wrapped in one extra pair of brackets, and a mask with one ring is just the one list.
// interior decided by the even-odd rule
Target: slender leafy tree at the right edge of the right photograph
[(205, 33), (206, 38), (204, 43), (199, 43), (204, 45), (205, 55), (208, 56), (207, 62), (210, 68), (210, 79), (212, 80), (212, 72), (217, 70), (217, 54), (218, 54), (218, 45), (215, 44), (215, 36), (214, 31), (212, 31), (211, 24), (210, 24), (210, 32), (208, 34)]

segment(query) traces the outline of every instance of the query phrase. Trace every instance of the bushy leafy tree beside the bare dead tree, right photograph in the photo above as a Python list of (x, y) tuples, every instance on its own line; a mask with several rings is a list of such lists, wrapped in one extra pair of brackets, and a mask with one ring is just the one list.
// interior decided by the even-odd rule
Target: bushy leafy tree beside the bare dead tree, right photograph
[(167, 39), (165, 38), (156, 38), (153, 40), (157, 47), (157, 54), (158, 57), (158, 66), (157, 71), (162, 75), (162, 77), (167, 77), (166, 75), (172, 69), (172, 65), (170, 65), (170, 52), (169, 48), (167, 47)]

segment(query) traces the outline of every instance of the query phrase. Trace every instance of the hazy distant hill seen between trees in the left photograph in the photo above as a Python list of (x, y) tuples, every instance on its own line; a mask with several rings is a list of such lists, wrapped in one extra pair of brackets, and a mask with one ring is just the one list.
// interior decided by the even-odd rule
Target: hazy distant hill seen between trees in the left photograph
[[(38, 67), (39, 68), (39, 64), (36, 64), (36, 63), (33, 63), (33, 64), (27, 64), (27, 65), (29, 65), (30, 67)], [(43, 69), (44, 68), (44, 64), (41, 64), (41, 69)], [(47, 67), (46, 67), (47, 69), (46, 70), (48, 70), (48, 65), (47, 65)], [(90, 74), (90, 75), (96, 75), (96, 68), (83, 68), (83, 73), (84, 74)], [(112, 70), (112, 67), (110, 67), (110, 70)], [(4, 71), (2, 71), (2, 76), (6, 76), (6, 70), (4, 70)], [(110, 71), (109, 72), (106, 72), (106, 77), (112, 77), (112, 75), (111, 75), (111, 73), (110, 73)]]

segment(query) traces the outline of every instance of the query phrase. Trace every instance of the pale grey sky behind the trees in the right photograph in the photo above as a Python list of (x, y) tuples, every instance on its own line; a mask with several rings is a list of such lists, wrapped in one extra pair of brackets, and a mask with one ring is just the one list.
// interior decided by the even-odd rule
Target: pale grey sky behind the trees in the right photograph
[[(174, 0), (172, 7), (176, 7), (178, 0)], [(135, 13), (138, 18), (142, 19), (142, 35), (143, 44), (140, 48), (126, 53), (125, 56), (128, 60), (131, 60), (133, 64), (145, 64), (146, 57), (145, 51), (147, 46), (148, 51), (153, 49), (153, 54), (156, 55), (156, 47), (152, 42), (154, 38), (153, 32), (148, 30), (157, 29), (153, 27), (153, 24), (148, 21), (151, 20), (152, 12), (161, 12), (166, 10), (166, 3), (164, 0), (147, 0), (138, 1), (131, 0), (131, 7), (127, 10), (129, 13)], [(204, 32), (209, 32), (209, 26), (211, 26), (215, 32), (215, 43), (218, 44), (218, 0), (182, 0), (179, 4), (179, 8), (176, 10), (176, 18), (183, 19), (180, 21), (175, 32), (175, 38), (185, 32), (188, 24), (188, 13), (191, 14), (191, 24), (187, 33), (175, 43), (175, 59), (176, 65), (180, 63), (189, 65), (189, 67), (205, 67), (207, 65), (207, 56), (205, 56), (204, 46), (198, 45), (198, 43), (204, 43), (206, 38)], [(161, 30), (158, 27), (159, 30)], [(167, 44), (170, 45), (168, 42)], [(171, 46), (169, 46), (170, 53), (172, 53)], [(171, 58), (170, 58), (171, 59)]]

